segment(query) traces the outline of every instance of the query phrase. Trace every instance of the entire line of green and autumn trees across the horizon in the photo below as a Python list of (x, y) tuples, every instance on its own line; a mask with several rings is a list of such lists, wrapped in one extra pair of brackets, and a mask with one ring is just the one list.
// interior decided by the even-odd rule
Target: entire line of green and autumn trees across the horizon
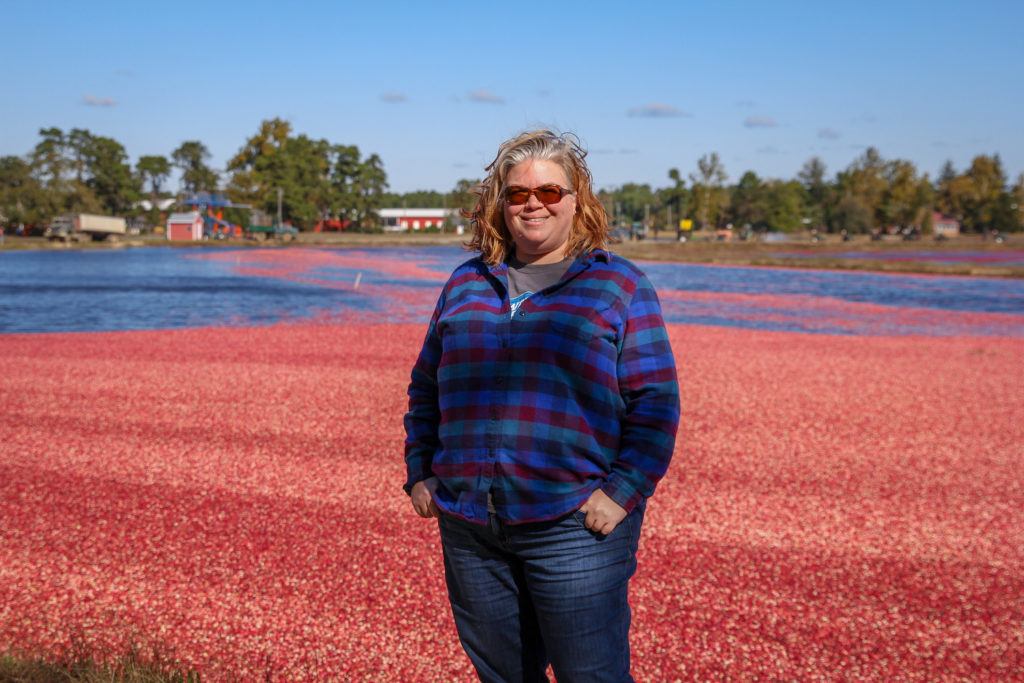
[[(210, 167), (210, 152), (185, 140), (169, 156), (142, 156), (132, 166), (117, 140), (74, 128), (44, 128), (24, 157), (0, 157), (0, 223), (44, 225), (65, 213), (160, 219), (155, 207), (173, 197), (166, 187), (173, 170), (184, 194), (221, 191), (232, 202), (308, 229), (321, 219), (341, 219), (370, 227), (382, 207), (470, 208), (477, 180), (460, 179), (445, 193), (388, 191), (379, 156), (364, 156), (354, 144), (338, 144), (296, 134), (291, 124), (269, 119), (259, 125), (222, 173)], [(884, 228), (928, 231), (933, 211), (961, 221), (966, 230), (1024, 228), (1024, 174), (1008, 182), (998, 155), (979, 155), (963, 170), (946, 162), (932, 180), (907, 160), (886, 160), (868, 147), (847, 168), (828, 176), (818, 158), (796, 178), (762, 178), (744, 172), (734, 184), (716, 153), (697, 160), (684, 176), (669, 169), (669, 184), (628, 182), (602, 189), (616, 224), (642, 223), (675, 229), (680, 219), (694, 227), (734, 226), (752, 230), (869, 232)], [(238, 220), (246, 220), (239, 217)]]

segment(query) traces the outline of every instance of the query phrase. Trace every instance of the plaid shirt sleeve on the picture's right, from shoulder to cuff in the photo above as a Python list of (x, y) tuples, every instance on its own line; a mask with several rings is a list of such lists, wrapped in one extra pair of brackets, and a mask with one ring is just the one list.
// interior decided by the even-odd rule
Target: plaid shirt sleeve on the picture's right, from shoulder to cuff
[(617, 370), (626, 412), (618, 457), (601, 489), (629, 512), (654, 493), (679, 428), (676, 360), (657, 294), (642, 274), (627, 309)]

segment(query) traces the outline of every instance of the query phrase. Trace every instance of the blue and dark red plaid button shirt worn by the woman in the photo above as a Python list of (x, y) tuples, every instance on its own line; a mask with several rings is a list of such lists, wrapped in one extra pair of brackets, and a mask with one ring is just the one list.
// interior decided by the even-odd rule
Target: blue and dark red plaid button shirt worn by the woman
[(679, 384), (654, 289), (595, 250), (510, 315), (508, 266), (452, 273), (413, 368), (406, 492), (440, 479), (449, 514), (555, 519), (600, 487), (627, 511), (672, 458)]

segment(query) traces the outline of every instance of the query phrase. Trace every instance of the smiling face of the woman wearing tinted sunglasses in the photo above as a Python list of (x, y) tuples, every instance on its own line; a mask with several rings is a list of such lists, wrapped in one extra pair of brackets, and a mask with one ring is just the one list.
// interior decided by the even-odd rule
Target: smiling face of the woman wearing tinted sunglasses
[[(569, 188), (565, 171), (555, 162), (527, 159), (519, 162), (505, 178), (505, 187), (534, 188), (541, 185), (560, 185)], [(565, 258), (572, 216), (575, 214), (575, 195), (565, 195), (555, 204), (543, 204), (530, 195), (525, 204), (511, 205), (503, 199), (505, 225), (515, 242), (516, 257), (526, 263), (556, 263)]]

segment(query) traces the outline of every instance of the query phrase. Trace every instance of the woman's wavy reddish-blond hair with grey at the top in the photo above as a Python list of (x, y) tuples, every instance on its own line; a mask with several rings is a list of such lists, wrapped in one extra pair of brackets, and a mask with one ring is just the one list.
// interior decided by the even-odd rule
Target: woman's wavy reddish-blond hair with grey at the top
[(572, 216), (566, 254), (578, 256), (593, 249), (607, 248), (608, 216), (594, 195), (590, 169), (584, 161), (586, 157), (586, 150), (572, 133), (529, 130), (502, 142), (498, 156), (485, 169), (487, 177), (474, 189), (478, 196), (476, 206), (472, 211), (463, 212), (473, 230), (466, 248), (480, 252), (488, 265), (503, 262), (515, 249), (512, 233), (505, 224), (503, 191), (512, 167), (530, 159), (561, 166), (569, 189), (575, 193), (577, 212)]

